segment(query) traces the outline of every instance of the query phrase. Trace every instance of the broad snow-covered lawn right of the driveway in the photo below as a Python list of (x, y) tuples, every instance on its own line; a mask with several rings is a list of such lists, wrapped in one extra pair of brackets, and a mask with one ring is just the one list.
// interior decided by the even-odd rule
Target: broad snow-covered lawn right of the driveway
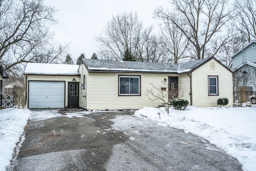
[[(160, 113), (160, 118), (158, 115)], [(256, 166), (256, 108), (188, 106), (186, 110), (144, 107), (134, 116), (146, 117), (205, 138), (242, 164), (244, 171)]]

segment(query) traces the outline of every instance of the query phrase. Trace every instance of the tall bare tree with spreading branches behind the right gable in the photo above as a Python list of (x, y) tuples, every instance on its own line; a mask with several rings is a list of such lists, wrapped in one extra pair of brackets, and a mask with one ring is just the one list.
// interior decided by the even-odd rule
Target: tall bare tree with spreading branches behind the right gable
[(209, 55), (214, 56), (228, 39), (221, 35), (232, 18), (228, 3), (229, 0), (171, 0), (173, 9), (159, 7), (154, 16), (182, 31), (189, 41), (192, 58), (203, 59), (209, 49)]

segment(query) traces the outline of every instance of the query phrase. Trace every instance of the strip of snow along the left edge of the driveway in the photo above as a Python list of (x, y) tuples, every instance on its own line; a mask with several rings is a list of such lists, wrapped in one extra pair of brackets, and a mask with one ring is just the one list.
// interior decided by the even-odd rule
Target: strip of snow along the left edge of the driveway
[(14, 153), (16, 143), (24, 132), (31, 111), (6, 108), (0, 110), (0, 170), (6, 170)]

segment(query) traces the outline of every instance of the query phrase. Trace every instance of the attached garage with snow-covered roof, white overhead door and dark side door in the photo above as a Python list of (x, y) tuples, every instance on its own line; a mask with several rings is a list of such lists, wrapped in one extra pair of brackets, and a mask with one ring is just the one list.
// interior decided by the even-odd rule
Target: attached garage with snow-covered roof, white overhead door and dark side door
[(27, 63), (28, 108), (79, 107), (79, 65)]

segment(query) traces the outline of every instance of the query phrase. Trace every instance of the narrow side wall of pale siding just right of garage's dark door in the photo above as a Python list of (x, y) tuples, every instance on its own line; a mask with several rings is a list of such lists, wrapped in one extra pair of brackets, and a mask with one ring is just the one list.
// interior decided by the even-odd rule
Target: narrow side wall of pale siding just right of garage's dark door
[(79, 97), (79, 106), (81, 108), (87, 109), (87, 94), (88, 94), (88, 71), (83, 63), (80, 64), (78, 69), (80, 73), (80, 85), (84, 83), (84, 75), (85, 75), (85, 85), (84, 88), (80, 88), (80, 97)]

